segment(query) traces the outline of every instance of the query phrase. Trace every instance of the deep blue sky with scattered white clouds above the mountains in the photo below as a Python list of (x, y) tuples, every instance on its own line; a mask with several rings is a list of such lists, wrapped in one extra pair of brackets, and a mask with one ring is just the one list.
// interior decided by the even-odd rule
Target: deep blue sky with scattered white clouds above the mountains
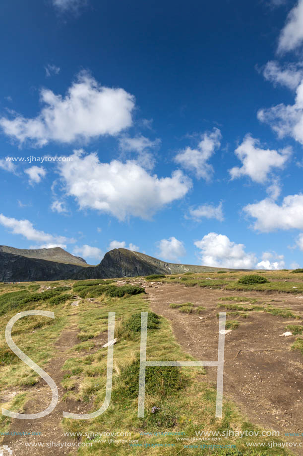
[(303, 266), (303, 0), (1, 9), (1, 244)]

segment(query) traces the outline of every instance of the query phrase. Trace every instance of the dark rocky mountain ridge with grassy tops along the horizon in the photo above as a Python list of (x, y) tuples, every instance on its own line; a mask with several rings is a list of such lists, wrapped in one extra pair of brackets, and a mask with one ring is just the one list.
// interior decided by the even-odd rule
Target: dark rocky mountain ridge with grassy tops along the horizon
[[(221, 268), (222, 269), (222, 268)], [(60, 247), (15, 249), (0, 246), (0, 281), (64, 280), (133, 277), (149, 274), (184, 274), (216, 271), (208, 266), (167, 263), (140, 252), (114, 249), (97, 266), (89, 266)]]

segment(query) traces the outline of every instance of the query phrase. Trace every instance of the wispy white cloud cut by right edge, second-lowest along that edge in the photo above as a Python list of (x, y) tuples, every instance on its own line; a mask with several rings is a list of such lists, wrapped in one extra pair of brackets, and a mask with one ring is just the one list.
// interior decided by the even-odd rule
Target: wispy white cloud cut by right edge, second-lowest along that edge
[(268, 109), (260, 109), (257, 118), (269, 124), (279, 138), (289, 135), (303, 144), (303, 81), (297, 88), (295, 104), (281, 103)]

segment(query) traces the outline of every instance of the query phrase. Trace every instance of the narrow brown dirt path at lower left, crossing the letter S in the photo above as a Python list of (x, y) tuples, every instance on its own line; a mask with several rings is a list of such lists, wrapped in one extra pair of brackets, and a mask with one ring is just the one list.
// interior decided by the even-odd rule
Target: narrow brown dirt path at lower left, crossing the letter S
[[(41, 455), (74, 455), (77, 449), (70, 449), (67, 446), (58, 448), (46, 447), (49, 442), (54, 443), (69, 443), (75, 442), (72, 437), (64, 437), (61, 429), (61, 420), (63, 418), (63, 411), (71, 411), (74, 413), (88, 413), (91, 405), (83, 402), (76, 402), (68, 399), (62, 400), (64, 392), (66, 392), (61, 381), (63, 379), (64, 372), (61, 370), (64, 362), (70, 358), (68, 350), (74, 345), (79, 343), (77, 339), (77, 329), (75, 320), (72, 319), (69, 324), (69, 329), (61, 333), (61, 336), (55, 344), (57, 355), (55, 358), (43, 369), (51, 375), (55, 381), (59, 391), (59, 401), (56, 408), (49, 415), (35, 420), (12, 420), (10, 425), (10, 431), (13, 432), (41, 432), (42, 435), (38, 436), (6, 436), (2, 442), (2, 445), (7, 445), (13, 451), (13, 455), (18, 456), (41, 456)], [(36, 413), (44, 410), (50, 404), (52, 400), (52, 391), (47, 383), (41, 379), (35, 386), (29, 388), (30, 399), (25, 405), (23, 413)], [(28, 391), (28, 390), (27, 390)], [(26, 443), (44, 443), (44, 448), (40, 447), (26, 447)]]

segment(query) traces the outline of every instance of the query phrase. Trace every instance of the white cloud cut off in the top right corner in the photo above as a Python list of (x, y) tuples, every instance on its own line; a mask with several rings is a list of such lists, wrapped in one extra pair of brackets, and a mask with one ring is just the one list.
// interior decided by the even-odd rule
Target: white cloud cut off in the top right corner
[(283, 53), (293, 51), (302, 44), (303, 41), (303, 0), (299, 0), (297, 5), (290, 11), (286, 25), (282, 29), (278, 52)]

